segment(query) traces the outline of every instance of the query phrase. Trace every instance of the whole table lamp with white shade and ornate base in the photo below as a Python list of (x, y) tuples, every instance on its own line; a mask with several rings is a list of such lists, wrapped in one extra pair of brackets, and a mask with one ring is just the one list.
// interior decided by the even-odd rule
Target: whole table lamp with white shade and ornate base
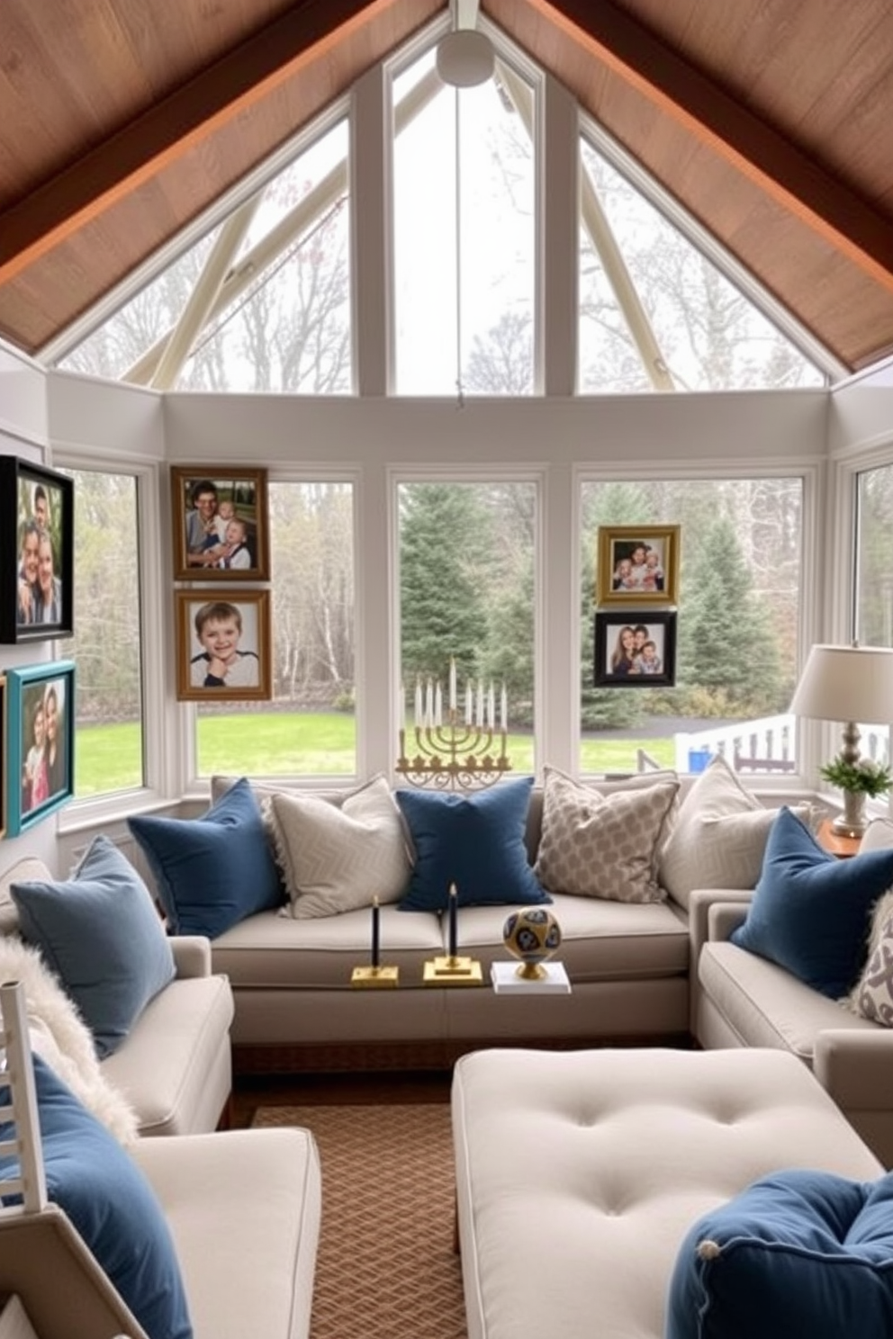
[[(889, 724), (893, 720), (893, 649), (889, 647), (814, 645), (806, 659), (797, 684), (791, 711), (797, 716), (815, 720), (842, 720), (843, 743), (838, 761), (858, 767), (865, 763), (860, 755), (860, 728), (857, 720)], [(874, 786), (843, 790), (843, 813), (831, 823), (839, 837), (861, 837), (866, 828), (865, 795), (889, 790), (886, 769), (877, 770)], [(838, 785), (841, 785), (838, 782)]]

